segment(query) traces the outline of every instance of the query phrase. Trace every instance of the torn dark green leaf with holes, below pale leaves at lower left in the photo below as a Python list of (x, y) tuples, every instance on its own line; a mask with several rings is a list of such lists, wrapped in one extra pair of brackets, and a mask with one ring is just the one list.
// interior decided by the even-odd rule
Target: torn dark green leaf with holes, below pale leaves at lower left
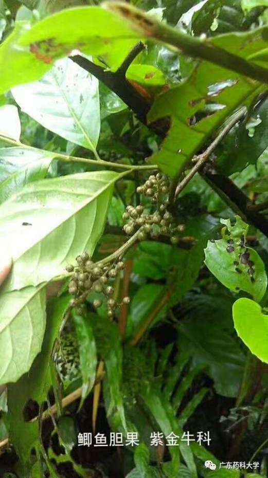
[[(27, 471), (32, 465), (30, 456), (31, 449), (32, 447), (38, 447), (39, 426), (38, 420), (34, 422), (25, 420), (25, 408), (30, 399), (36, 401), (39, 406), (47, 399), (47, 393), (52, 384), (49, 367), (51, 352), (68, 303), (69, 296), (65, 295), (50, 304), (41, 353), (35, 358), (28, 374), (23, 375), (16, 383), (10, 383), (8, 385), (7, 421), (9, 425), (9, 437), (27, 476), (29, 476)], [(36, 304), (34, 310), (37, 315), (40, 313)], [(27, 334), (27, 329), (25, 333)], [(27, 339), (29, 340), (29, 333)], [(21, 343), (20, 338), (17, 343)], [(24, 345), (16, 348), (23, 351)]]

